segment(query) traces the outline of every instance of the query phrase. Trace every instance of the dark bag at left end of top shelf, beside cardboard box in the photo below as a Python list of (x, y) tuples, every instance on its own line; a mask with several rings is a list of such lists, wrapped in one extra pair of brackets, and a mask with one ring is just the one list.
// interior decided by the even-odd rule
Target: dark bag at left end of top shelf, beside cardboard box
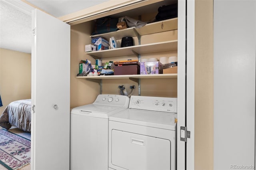
[(93, 35), (117, 31), (118, 18), (99, 18), (95, 22)]

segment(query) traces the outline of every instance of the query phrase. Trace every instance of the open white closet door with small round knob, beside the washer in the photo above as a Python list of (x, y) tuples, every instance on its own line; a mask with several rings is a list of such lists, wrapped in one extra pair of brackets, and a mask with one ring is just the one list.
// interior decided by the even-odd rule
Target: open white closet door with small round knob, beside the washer
[(70, 25), (32, 11), (32, 152), (34, 170), (68, 170)]

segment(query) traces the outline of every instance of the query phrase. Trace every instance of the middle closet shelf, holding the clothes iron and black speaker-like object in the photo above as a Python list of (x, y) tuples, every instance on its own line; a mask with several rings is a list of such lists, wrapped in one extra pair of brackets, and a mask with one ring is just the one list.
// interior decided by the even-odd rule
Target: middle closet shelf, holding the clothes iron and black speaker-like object
[(98, 58), (120, 57), (126, 55), (136, 55), (145, 53), (157, 53), (163, 51), (175, 51), (178, 47), (178, 40), (167, 42), (149, 43), (144, 45), (134, 45), (130, 47), (121, 47), (116, 49), (107, 49), (102, 51), (86, 52), (86, 54)]

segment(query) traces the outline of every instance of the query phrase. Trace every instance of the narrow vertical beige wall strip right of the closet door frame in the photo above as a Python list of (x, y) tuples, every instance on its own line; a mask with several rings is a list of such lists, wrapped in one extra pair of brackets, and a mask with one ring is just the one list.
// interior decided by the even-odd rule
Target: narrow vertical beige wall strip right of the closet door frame
[(195, 170), (213, 169), (213, 0), (195, 1)]

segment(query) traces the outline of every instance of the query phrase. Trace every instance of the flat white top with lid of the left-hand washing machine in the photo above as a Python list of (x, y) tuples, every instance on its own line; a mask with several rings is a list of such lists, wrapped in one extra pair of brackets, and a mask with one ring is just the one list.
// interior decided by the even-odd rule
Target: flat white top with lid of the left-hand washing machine
[(90, 104), (73, 108), (71, 110), (71, 114), (108, 119), (110, 115), (118, 113), (118, 111), (124, 110), (126, 108), (127, 107), (123, 106)]

